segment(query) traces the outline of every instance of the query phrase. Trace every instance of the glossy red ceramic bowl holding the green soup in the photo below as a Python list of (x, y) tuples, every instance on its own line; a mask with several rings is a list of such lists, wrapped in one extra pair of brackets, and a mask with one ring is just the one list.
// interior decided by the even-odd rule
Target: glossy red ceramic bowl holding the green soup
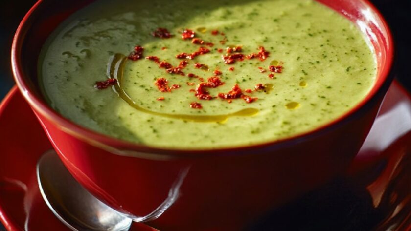
[(92, 0), (40, 0), (20, 24), (14, 77), (73, 176), (136, 221), (164, 231), (238, 231), (258, 216), (342, 174), (360, 149), (392, 80), (393, 41), (366, 0), (319, 0), (354, 21), (378, 59), (371, 92), (341, 118), (289, 139), (217, 150), (179, 150), (120, 141), (53, 111), (37, 85), (48, 35)]

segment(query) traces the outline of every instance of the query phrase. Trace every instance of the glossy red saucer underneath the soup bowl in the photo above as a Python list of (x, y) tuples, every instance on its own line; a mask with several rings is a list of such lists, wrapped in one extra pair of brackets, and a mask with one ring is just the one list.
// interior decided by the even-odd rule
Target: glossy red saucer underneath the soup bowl
[[(36, 163), (52, 147), (16, 87), (0, 105), (0, 128), (0, 221), (8, 231), (69, 231), (40, 195)], [(411, 230), (410, 131), (411, 97), (394, 82), (346, 177), (384, 211), (375, 231)], [(130, 231), (155, 229), (134, 223)]]

